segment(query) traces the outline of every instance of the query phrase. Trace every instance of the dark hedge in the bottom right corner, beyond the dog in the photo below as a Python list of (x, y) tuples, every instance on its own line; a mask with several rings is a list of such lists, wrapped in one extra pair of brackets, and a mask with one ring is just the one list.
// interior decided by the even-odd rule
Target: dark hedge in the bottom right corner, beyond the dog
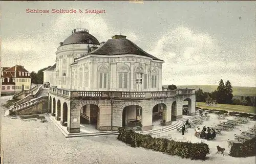
[(246, 140), (244, 143), (233, 143), (232, 147), (230, 148), (229, 156), (232, 157), (249, 157), (255, 156), (255, 149), (256, 149), (256, 137)]

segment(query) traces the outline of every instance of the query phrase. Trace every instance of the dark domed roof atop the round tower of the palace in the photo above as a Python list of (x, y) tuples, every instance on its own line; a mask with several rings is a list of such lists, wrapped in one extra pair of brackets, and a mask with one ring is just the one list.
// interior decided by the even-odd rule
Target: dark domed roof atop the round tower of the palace
[(67, 44), (97, 44), (100, 45), (99, 41), (91, 34), (87, 29), (74, 29), (72, 34), (60, 43), (61, 45)]

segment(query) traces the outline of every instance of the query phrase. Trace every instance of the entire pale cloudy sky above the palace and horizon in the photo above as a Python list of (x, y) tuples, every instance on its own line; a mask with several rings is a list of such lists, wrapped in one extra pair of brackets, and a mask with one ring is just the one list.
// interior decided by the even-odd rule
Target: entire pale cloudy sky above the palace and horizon
[[(255, 1), (0, 3), (2, 66), (19, 64), (37, 72), (53, 65), (59, 42), (73, 29), (86, 28), (99, 42), (126, 35), (164, 60), (163, 84), (218, 85), (223, 79), (233, 86), (256, 87)], [(86, 9), (105, 13), (84, 13)]]

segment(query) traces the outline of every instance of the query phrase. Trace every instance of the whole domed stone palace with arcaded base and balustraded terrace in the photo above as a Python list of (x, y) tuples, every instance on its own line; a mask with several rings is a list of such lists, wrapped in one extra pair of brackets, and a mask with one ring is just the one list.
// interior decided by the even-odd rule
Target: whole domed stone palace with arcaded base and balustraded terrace
[(124, 35), (100, 43), (89, 30), (74, 29), (44, 72), (51, 86), (49, 112), (69, 133), (80, 132), (81, 124), (99, 131), (146, 131), (157, 120), (167, 126), (182, 118), (183, 101), (194, 115), (195, 90), (162, 91), (163, 63)]

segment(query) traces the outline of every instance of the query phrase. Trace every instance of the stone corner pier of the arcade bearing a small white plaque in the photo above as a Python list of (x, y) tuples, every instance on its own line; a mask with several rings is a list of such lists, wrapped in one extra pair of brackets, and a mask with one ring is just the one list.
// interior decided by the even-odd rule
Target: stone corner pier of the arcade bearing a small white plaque
[(80, 133), (80, 109), (78, 102), (71, 100), (70, 108), (68, 107), (68, 126), (69, 133)]

